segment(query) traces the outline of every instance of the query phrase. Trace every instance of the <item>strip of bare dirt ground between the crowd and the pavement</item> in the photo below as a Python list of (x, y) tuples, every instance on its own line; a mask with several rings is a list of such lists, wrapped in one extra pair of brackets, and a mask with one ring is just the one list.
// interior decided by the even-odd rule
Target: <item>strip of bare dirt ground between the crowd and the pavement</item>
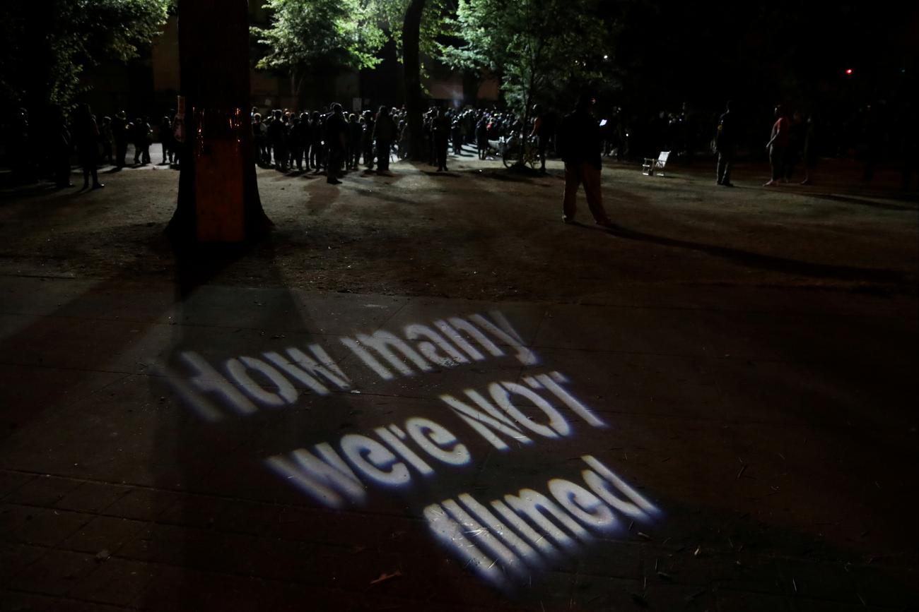
[[(855, 162), (825, 161), (816, 186), (764, 188), (766, 168), (741, 164), (730, 189), (714, 184), (708, 161), (653, 177), (605, 164), (611, 231), (594, 225), (583, 191), (579, 223), (562, 223), (561, 161), (546, 175), (521, 174), (470, 151), (447, 173), (396, 162), (391, 177), (351, 172), (338, 186), (259, 169), (277, 228), (209, 280), (561, 302), (634, 284), (916, 293), (919, 201), (898, 191), (893, 172), (868, 187)], [(163, 229), (178, 172), (147, 166), (102, 177), (98, 191), (39, 185), (0, 195), (0, 273), (173, 280)]]

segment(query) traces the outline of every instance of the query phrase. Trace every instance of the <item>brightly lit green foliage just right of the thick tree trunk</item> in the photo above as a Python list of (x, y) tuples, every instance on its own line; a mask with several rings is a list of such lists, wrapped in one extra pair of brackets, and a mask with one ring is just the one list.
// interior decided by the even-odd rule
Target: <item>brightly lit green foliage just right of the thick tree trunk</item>
[(294, 74), (372, 68), (386, 41), (373, 0), (268, 0), (268, 28), (252, 28), (265, 54), (258, 68)]

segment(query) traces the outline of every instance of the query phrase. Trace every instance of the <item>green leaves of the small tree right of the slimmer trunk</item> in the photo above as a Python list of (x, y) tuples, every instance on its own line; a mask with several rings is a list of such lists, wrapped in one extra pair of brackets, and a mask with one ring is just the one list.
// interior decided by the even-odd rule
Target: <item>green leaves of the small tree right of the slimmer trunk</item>
[[(501, 77), (505, 98), (524, 111), (566, 91), (596, 84), (610, 28), (599, 0), (459, 0), (454, 31), (442, 45), (453, 67)], [(523, 113), (521, 113), (523, 114)]]

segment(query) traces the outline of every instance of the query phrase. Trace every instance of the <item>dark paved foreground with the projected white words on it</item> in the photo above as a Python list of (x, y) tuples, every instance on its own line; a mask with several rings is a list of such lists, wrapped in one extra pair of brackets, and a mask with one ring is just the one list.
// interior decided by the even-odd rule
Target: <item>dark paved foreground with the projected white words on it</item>
[(3, 610), (917, 606), (912, 298), (0, 287)]

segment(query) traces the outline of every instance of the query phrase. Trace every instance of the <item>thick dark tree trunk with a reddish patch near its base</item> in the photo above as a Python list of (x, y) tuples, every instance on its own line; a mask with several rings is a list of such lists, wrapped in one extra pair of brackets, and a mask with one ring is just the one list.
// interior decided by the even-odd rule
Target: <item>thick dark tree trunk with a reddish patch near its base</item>
[(167, 231), (191, 242), (258, 239), (273, 224), (255, 179), (248, 4), (180, 0), (178, 36), (185, 141)]

